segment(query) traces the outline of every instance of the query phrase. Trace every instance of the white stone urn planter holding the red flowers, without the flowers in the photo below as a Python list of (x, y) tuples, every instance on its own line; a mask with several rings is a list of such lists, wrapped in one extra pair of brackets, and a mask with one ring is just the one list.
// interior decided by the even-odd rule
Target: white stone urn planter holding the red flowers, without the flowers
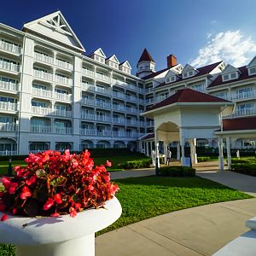
[(14, 244), (17, 256), (93, 256), (95, 232), (113, 224), (122, 212), (116, 197), (104, 207), (79, 212), (75, 218), (9, 215), (0, 222), (0, 242)]

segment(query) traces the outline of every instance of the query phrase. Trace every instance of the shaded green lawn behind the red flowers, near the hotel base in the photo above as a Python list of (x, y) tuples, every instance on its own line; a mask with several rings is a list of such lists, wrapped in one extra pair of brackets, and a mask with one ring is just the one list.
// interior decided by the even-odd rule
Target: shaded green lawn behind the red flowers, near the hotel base
[[(105, 164), (107, 160), (110, 160), (113, 163), (111, 168), (108, 167), (108, 171), (121, 171), (119, 164), (125, 163), (126, 161), (130, 160), (144, 160), (148, 159), (143, 154), (131, 154), (131, 155), (119, 155), (119, 156), (112, 156), (112, 157), (95, 157), (93, 158), (96, 165)], [(9, 166), (8, 160), (1, 160), (0, 161), (0, 176), (6, 175)], [(13, 160), (12, 166), (26, 166), (26, 163), (23, 160)]]

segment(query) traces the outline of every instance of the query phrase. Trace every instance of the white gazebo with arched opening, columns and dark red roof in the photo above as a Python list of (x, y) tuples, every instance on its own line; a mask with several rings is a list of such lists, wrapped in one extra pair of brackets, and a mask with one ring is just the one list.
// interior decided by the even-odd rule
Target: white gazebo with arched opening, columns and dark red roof
[(185, 88), (177, 90), (175, 94), (148, 108), (141, 115), (154, 119), (156, 154), (159, 152), (160, 141), (164, 143), (165, 155), (167, 145), (178, 142), (177, 154), (181, 148), (181, 164), (185, 166), (185, 142), (189, 142), (191, 161), (196, 163), (196, 139), (217, 138), (219, 168), (224, 170), (223, 135), (216, 134), (215, 131), (223, 131), (222, 116), (230, 115), (234, 106), (234, 102)]

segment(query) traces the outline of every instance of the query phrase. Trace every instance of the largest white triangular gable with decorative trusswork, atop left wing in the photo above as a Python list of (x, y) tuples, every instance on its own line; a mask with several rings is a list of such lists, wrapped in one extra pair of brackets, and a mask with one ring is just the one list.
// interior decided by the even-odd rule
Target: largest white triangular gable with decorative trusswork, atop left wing
[(36, 32), (43, 37), (52, 38), (62, 44), (85, 51), (83, 44), (68, 25), (61, 11), (46, 15), (38, 20), (32, 20), (24, 24), (22, 30)]

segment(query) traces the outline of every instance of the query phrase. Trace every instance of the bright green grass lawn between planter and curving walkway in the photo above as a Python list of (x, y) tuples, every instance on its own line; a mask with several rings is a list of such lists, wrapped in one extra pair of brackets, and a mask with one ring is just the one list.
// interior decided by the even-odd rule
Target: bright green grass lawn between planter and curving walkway
[[(99, 236), (145, 218), (220, 201), (252, 198), (201, 177), (131, 177), (117, 180), (123, 213)], [(0, 256), (14, 256), (12, 246), (0, 245)]]

